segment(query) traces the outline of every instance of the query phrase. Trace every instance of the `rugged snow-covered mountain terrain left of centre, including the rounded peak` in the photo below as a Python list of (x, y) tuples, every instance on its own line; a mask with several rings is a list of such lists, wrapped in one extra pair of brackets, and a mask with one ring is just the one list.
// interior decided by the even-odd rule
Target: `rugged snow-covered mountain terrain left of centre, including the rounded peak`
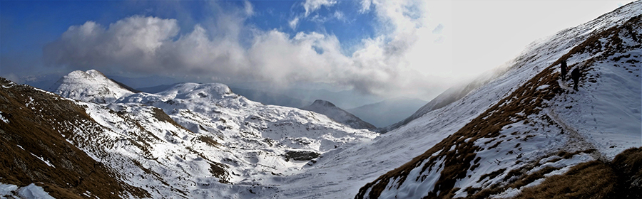
[(102, 127), (97, 130), (101, 136), (76, 131), (84, 138), (79, 142), (89, 143), (79, 148), (109, 160), (111, 168), (128, 168), (118, 171), (126, 176), (123, 181), (144, 185), (153, 198), (234, 197), (219, 189), (264, 184), (266, 176), (300, 172), (328, 151), (377, 136), (323, 114), (253, 102), (217, 83), (181, 83), (156, 94), (78, 92), (86, 91), (87, 85), (95, 90), (119, 88), (91, 74), (100, 73), (71, 72), (56, 90), (86, 100), (77, 103)]

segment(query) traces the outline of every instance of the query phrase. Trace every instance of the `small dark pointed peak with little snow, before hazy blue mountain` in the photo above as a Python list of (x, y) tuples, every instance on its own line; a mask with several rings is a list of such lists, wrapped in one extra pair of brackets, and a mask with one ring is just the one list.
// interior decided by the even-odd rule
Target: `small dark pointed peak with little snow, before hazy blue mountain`
[(352, 127), (353, 129), (377, 129), (377, 127), (374, 127), (374, 125), (368, 122), (364, 122), (354, 114), (351, 114), (350, 112), (347, 112), (340, 107), (335, 106), (335, 104), (332, 104), (332, 102), (327, 102), (325, 100), (317, 99), (309, 106), (302, 107), (301, 109), (325, 114), (327, 117), (330, 117), (330, 119), (334, 119), (335, 121), (341, 124), (345, 124), (348, 127)]

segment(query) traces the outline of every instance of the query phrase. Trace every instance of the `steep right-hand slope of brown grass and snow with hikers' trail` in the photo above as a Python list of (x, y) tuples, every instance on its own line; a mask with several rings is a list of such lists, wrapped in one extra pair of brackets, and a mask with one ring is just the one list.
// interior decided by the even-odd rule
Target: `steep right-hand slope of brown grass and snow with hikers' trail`
[[(530, 187), (546, 189), (560, 174), (620, 178), (611, 160), (641, 146), (641, 9), (642, 1), (636, 1), (534, 43), (511, 69), (531, 70), (532, 76), (518, 76), (526, 82), (423, 154), (362, 187), (356, 198), (511, 198)], [(559, 80), (561, 60), (582, 71), (579, 91)], [(594, 194), (604, 195), (639, 186), (586, 182), (556, 194), (600, 187), (603, 193)]]

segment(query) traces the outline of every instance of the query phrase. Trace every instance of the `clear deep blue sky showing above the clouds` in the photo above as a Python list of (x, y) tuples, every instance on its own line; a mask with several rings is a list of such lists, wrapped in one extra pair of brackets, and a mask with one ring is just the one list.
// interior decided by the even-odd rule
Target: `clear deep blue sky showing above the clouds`
[[(342, 48), (350, 51), (350, 43), (373, 36), (372, 13), (359, 14), (357, 1), (340, 1), (332, 9), (319, 9), (312, 17), (301, 19), (296, 29), (289, 21), (304, 13), (303, 1), (253, 1), (255, 14), (245, 24), (263, 30), (278, 29), (292, 36), (299, 31), (322, 31), (340, 38)], [(244, 1), (222, 1), (220, 9), (238, 9)], [(208, 1), (1, 1), (1, 54), (11, 58), (39, 60), (41, 48), (56, 40), (70, 26), (86, 21), (107, 25), (129, 16), (176, 18), (180, 34), (193, 31), (195, 24), (216, 17)], [(335, 12), (344, 18), (333, 18)], [(325, 21), (313, 17), (326, 18)], [(316, 21), (315, 21), (316, 20)], [(9, 59), (11, 59), (9, 58)], [(36, 63), (32, 63), (36, 64)], [(41, 63), (38, 63), (41, 64)], [(8, 69), (8, 68), (6, 68)], [(13, 68), (11, 68), (13, 69)], [(21, 70), (11, 70), (21, 72)]]

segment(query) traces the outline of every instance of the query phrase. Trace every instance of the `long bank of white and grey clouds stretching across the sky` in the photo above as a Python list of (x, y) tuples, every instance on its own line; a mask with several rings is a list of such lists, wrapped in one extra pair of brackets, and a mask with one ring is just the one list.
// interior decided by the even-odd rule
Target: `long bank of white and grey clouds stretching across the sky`
[[(336, 2), (306, 1), (302, 6), (307, 16)], [(44, 60), (80, 70), (178, 74), (218, 82), (325, 82), (375, 95), (427, 99), (451, 85), (444, 82), (454, 71), (449, 65), (452, 49), (443, 37), (448, 28), (426, 16), (424, 3), (363, 1), (356, 9), (375, 12), (378, 33), (353, 46), (350, 55), (342, 53), (332, 34), (290, 35), (245, 24), (255, 14), (245, 1), (245, 8), (219, 12), (188, 33), (180, 33), (179, 21), (171, 18), (131, 16), (108, 26), (87, 21), (47, 44)]]

